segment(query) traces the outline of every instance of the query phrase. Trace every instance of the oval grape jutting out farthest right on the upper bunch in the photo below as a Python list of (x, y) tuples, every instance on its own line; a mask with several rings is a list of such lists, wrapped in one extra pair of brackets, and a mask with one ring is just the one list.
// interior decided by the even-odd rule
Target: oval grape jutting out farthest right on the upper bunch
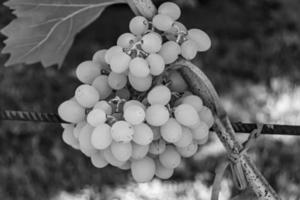
[(207, 51), (211, 46), (209, 36), (200, 29), (190, 29), (188, 38), (195, 41), (198, 46), (198, 51)]

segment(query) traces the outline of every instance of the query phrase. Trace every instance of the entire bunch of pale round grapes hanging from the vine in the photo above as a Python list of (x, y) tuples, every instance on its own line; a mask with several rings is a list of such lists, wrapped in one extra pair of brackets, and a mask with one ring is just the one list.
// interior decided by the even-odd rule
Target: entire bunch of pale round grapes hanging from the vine
[[(209, 108), (173, 68), (179, 56), (193, 59), (210, 47), (199, 29), (176, 20), (180, 8), (163, 3), (152, 21), (137, 16), (117, 45), (78, 65), (82, 82), (58, 113), (63, 141), (92, 164), (131, 169), (137, 182), (168, 179), (181, 158), (197, 153), (214, 123)], [(170, 67), (169, 67), (170, 66)]]

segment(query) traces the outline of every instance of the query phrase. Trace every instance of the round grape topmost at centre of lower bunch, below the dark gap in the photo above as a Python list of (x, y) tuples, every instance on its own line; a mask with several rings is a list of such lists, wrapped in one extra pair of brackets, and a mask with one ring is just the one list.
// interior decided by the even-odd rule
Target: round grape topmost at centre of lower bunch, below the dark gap
[(167, 105), (171, 100), (171, 91), (167, 86), (164, 85), (155, 86), (148, 93), (147, 100), (151, 105)]

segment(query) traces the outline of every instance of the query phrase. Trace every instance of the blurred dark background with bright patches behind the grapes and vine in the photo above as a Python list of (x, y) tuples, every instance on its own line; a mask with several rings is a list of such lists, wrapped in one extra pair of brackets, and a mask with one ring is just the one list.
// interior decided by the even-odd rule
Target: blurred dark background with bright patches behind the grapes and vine
[[(300, 124), (299, 1), (175, 2), (183, 9), (180, 21), (206, 31), (212, 39), (212, 48), (193, 62), (214, 83), (233, 121)], [(0, 109), (56, 112), (79, 84), (76, 66), (96, 50), (113, 45), (128, 31), (132, 17), (125, 5), (106, 9), (77, 35), (61, 69), (40, 64), (5, 68), (8, 55), (0, 55)], [(0, 28), (13, 18), (1, 5)], [(3, 40), (0, 35), (0, 50)], [(0, 121), (0, 199), (206, 200), (214, 170), (225, 157), (212, 136), (171, 180), (135, 184), (128, 172), (94, 168), (62, 142), (61, 132), (57, 124)], [(300, 199), (300, 136), (262, 136), (250, 153), (283, 199)], [(220, 199), (239, 193), (226, 173)], [(247, 198), (254, 199), (249, 192), (239, 199)]]

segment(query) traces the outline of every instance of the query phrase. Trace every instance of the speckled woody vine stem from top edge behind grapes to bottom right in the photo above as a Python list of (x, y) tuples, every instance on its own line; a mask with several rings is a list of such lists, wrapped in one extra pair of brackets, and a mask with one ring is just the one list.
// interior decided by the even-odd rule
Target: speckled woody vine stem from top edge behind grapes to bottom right
[[(137, 15), (143, 15), (151, 19), (157, 12), (157, 9), (151, 0), (127, 0), (132, 10)], [(234, 166), (241, 169), (237, 176), (245, 176), (249, 186), (259, 199), (279, 200), (280, 197), (257, 167), (252, 162), (243, 146), (236, 140), (235, 131), (231, 125), (226, 111), (220, 103), (218, 94), (205, 76), (205, 74), (191, 62), (180, 60), (176, 65), (182, 66), (181, 74), (192, 88), (192, 92), (204, 100), (206, 106), (214, 112), (215, 125), (214, 131), (225, 146), (229, 157), (235, 158)]]

